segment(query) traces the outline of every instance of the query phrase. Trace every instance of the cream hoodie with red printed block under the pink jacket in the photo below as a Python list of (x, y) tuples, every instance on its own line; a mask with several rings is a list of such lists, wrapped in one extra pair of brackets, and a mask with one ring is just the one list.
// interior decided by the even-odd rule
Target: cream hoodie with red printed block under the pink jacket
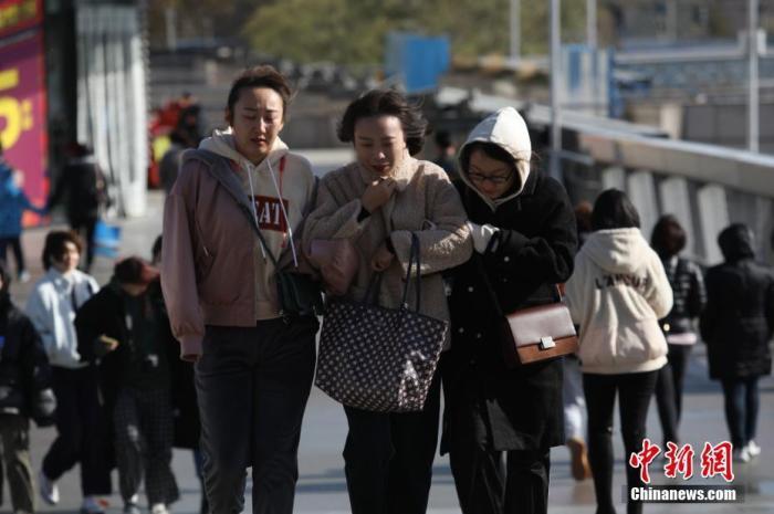
[[(266, 158), (254, 166), (237, 151), (230, 128), (215, 130), (211, 137), (199, 144), (199, 149), (218, 154), (233, 164), (244, 192), (253, 199), (253, 216), (269, 243), (269, 250), (279, 260), (285, 249), (290, 248), (297, 261), (301, 241), (295, 238), (295, 231), (308, 208), (314, 207), (311, 202), (315, 178), (310, 162), (300, 155), (291, 154), (287, 145), (278, 137)], [(253, 280), (258, 319), (276, 318), (280, 314), (274, 265), (261, 246), (258, 235), (253, 237), (253, 255), (257, 262)]]

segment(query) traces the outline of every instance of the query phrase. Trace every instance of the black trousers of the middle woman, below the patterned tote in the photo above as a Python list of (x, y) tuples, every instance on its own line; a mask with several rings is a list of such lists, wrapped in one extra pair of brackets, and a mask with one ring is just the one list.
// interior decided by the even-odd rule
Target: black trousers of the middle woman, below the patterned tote
[(420, 412), (345, 407), (344, 472), (353, 514), (423, 514), (438, 444), (440, 375)]

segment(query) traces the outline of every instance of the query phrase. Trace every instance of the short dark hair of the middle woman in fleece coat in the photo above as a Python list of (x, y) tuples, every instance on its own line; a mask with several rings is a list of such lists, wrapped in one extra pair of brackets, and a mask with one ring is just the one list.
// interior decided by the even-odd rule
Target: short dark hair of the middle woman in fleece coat
[(355, 124), (360, 118), (395, 116), (406, 138), (410, 155), (417, 155), (425, 146), (427, 119), (420, 108), (408, 103), (406, 97), (393, 90), (372, 90), (347, 106), (338, 124), (337, 135), (342, 143), (355, 140)]

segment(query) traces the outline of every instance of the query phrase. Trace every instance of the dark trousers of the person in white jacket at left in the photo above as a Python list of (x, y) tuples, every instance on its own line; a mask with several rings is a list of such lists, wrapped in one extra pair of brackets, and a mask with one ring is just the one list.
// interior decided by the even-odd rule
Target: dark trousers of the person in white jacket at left
[(97, 397), (96, 370), (52, 366), (56, 395), (56, 439), (43, 458), (43, 473), (50, 480), (81, 463), (84, 496), (111, 494), (111, 462), (107, 423)]

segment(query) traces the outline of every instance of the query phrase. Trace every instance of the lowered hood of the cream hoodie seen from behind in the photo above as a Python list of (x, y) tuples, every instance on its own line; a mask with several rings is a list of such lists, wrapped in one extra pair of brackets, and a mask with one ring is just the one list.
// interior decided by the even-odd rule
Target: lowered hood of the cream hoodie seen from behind
[(639, 229), (598, 230), (580, 248), (599, 268), (610, 273), (631, 273), (642, 269), (653, 251)]

